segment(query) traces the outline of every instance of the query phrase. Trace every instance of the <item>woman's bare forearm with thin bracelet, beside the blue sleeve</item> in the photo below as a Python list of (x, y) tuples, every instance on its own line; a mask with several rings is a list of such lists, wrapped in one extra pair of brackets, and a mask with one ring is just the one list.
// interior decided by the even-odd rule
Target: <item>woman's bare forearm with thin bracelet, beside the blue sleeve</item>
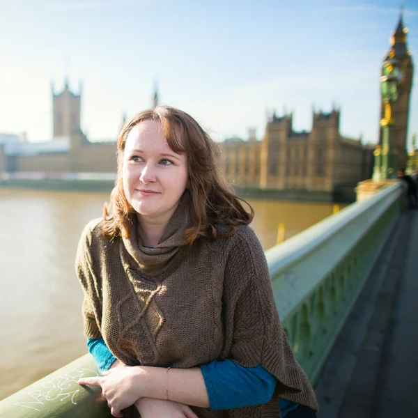
[(209, 408), (208, 392), (199, 367), (166, 369), (137, 366), (141, 397), (169, 399), (185, 405)]

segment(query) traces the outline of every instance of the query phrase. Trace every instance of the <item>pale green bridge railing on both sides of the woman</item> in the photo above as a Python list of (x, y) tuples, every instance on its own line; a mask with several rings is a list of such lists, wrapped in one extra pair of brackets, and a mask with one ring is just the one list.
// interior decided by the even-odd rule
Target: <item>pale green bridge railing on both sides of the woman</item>
[[(401, 210), (401, 185), (353, 203), (266, 251), (274, 297), (295, 355), (312, 382), (332, 348)], [(111, 417), (84, 355), (0, 401), (0, 417)]]

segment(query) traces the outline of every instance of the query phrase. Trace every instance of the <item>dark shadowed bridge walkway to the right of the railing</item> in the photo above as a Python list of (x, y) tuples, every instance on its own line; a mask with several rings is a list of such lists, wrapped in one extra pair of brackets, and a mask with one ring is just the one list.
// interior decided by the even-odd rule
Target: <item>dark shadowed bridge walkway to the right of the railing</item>
[(316, 385), (319, 418), (418, 417), (418, 213), (398, 220)]

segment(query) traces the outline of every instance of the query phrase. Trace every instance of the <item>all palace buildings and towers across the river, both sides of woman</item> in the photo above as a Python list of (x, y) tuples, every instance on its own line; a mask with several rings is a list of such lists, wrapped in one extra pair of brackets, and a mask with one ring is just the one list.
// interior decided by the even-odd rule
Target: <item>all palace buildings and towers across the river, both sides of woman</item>
[[(385, 60), (397, 59), (403, 74), (398, 84), (398, 100), (392, 108), (395, 122), (391, 146), (398, 153), (398, 167), (405, 167), (408, 158), (413, 64), (407, 32), (401, 14), (385, 56)], [(1, 141), (0, 134), (0, 173), (115, 173), (116, 141), (88, 141), (80, 127), (81, 96), (81, 92), (70, 91), (68, 82), (59, 93), (52, 89), (52, 141), (42, 144)], [(361, 138), (343, 137), (340, 116), (341, 109), (335, 107), (329, 113), (313, 109), (311, 132), (296, 132), (293, 114), (274, 113), (268, 119), (261, 141), (254, 130), (249, 130), (246, 140), (234, 137), (219, 144), (222, 169), (235, 187), (248, 189), (333, 192), (339, 187), (353, 187), (371, 178), (375, 146), (362, 144)]]

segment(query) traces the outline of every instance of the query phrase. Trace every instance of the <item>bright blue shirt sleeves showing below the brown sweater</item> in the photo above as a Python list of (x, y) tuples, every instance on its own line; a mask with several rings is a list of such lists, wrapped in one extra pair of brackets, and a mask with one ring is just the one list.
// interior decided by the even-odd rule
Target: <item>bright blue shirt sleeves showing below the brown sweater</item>
[[(108, 370), (116, 360), (102, 338), (88, 339), (87, 346), (100, 373)], [(225, 359), (214, 360), (200, 368), (208, 391), (210, 410), (227, 410), (268, 403), (277, 383), (276, 378), (261, 365), (244, 367)], [(282, 418), (299, 405), (285, 399), (280, 399), (279, 402)]]

